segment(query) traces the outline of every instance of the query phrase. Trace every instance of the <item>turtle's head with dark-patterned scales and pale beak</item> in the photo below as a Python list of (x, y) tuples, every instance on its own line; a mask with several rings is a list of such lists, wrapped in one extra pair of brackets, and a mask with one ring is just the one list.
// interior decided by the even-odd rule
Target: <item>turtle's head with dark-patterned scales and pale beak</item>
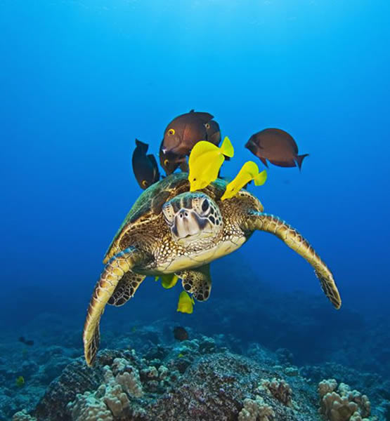
[(207, 194), (182, 193), (164, 204), (162, 213), (172, 238), (182, 246), (207, 248), (221, 232), (221, 211)]

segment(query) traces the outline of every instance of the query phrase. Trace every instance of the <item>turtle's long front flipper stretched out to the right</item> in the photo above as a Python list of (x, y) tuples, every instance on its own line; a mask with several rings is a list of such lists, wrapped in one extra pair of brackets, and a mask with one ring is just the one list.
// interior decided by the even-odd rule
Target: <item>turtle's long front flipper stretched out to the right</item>
[(337, 309), (342, 306), (342, 300), (334, 283), (332, 272), (330, 272), (330, 269), (320, 259), (308, 241), (297, 232), (297, 229), (294, 229), (287, 222), (280, 220), (276, 216), (256, 211), (249, 213), (242, 229), (249, 232), (257, 229), (259, 231), (271, 232), (271, 234), (278, 236), (287, 246), (296, 251), (313, 266), (318, 279), (320, 279), (321, 288), (323, 288), (325, 295), (332, 302), (332, 305)]

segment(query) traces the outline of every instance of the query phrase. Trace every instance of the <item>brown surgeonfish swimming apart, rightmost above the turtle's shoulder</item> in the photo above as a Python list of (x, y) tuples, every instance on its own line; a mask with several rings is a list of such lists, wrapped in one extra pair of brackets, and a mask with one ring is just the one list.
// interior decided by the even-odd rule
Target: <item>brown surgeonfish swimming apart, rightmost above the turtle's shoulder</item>
[(267, 160), (281, 167), (298, 166), (301, 169), (304, 155), (298, 155), (294, 138), (280, 128), (266, 128), (250, 137), (245, 145), (252, 154), (268, 167)]

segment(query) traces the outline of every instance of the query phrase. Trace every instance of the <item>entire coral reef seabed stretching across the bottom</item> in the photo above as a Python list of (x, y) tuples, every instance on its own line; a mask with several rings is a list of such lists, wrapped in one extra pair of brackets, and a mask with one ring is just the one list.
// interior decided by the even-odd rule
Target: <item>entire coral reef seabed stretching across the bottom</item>
[[(332, 410), (346, 411), (349, 421), (390, 418), (389, 382), (375, 373), (334, 362), (298, 368), (289, 349), (272, 352), (232, 333), (211, 338), (186, 326), (189, 339), (177, 341), (169, 321), (130, 329), (106, 329), (102, 348), (107, 341), (113, 349), (102, 349), (93, 368), (79, 357), (74, 330), (58, 330), (66, 346), (39, 345), (30, 333), (34, 346), (16, 342), (19, 354), (11, 362), (4, 355), (13, 342), (0, 344), (0, 419), (15, 414), (15, 421), (334, 421)], [(15, 384), (20, 375), (22, 387)], [(318, 386), (324, 378), (335, 382)], [(372, 415), (368, 399), (355, 389), (370, 396)], [(321, 413), (318, 391), (321, 401), (330, 394)]]

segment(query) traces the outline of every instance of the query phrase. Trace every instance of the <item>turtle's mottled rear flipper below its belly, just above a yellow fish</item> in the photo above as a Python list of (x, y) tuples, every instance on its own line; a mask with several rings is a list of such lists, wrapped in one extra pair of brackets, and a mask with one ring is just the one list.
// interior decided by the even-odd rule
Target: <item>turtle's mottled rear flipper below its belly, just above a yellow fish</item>
[(197, 267), (196, 269), (182, 270), (176, 275), (182, 279), (183, 288), (193, 294), (195, 300), (206, 301), (212, 290), (212, 278), (210, 276), (210, 265)]

